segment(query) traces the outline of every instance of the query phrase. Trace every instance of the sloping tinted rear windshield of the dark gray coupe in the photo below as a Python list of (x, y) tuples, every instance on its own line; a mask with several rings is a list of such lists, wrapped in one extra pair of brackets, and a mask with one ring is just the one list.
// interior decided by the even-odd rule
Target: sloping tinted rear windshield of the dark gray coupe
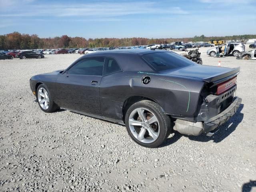
[(173, 52), (157, 52), (142, 56), (158, 72), (193, 65), (194, 63), (184, 56)]

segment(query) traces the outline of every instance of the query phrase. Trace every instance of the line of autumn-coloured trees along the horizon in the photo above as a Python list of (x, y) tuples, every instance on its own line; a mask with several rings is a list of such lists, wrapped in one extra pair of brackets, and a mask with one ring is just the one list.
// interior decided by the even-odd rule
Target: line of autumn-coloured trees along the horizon
[(20, 34), (13, 32), (0, 35), (0, 50), (3, 49), (46, 49), (46, 48), (94, 48), (94, 47), (121, 47), (121, 46), (139, 46), (148, 44), (162, 44), (163, 41), (171, 42), (208, 42), (212, 39), (220, 40), (242, 40), (256, 38), (256, 35), (234, 35), (234, 36), (216, 36), (206, 37), (204, 35), (194, 36), (192, 38), (89, 38), (69, 37), (62, 35), (54, 38), (39, 38), (36, 34)]

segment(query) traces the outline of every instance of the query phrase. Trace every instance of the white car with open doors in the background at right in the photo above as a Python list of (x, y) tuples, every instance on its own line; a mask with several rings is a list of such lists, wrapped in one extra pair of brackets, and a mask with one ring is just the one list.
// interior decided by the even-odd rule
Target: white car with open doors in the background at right
[[(240, 52), (245, 51), (245, 46), (243, 43), (226, 43), (219, 46), (219, 52), (222, 52), (225, 46), (226, 46), (226, 52), (224, 53), (224, 55), (233, 55), (236, 57)], [(216, 55), (217, 48), (218, 47), (208, 49), (206, 53), (214, 57)]]

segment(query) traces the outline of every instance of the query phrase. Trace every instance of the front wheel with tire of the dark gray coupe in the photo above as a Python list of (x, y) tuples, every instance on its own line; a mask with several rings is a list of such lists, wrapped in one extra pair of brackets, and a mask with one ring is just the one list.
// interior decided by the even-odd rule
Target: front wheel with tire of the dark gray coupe
[(44, 112), (50, 113), (58, 109), (58, 105), (56, 105), (52, 100), (51, 94), (48, 88), (46, 87), (46, 85), (40, 84), (38, 86), (37, 92), (36, 92), (36, 98), (37, 98), (38, 105)]

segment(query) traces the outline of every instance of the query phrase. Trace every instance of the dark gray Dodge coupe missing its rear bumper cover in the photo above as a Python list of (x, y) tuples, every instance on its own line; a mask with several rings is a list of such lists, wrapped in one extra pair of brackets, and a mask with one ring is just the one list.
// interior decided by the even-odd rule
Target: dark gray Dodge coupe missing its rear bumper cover
[(230, 119), (240, 68), (198, 65), (164, 50), (112, 50), (82, 56), (65, 70), (33, 76), (44, 112), (64, 108), (125, 124), (130, 137), (158, 147), (172, 130), (212, 136)]

